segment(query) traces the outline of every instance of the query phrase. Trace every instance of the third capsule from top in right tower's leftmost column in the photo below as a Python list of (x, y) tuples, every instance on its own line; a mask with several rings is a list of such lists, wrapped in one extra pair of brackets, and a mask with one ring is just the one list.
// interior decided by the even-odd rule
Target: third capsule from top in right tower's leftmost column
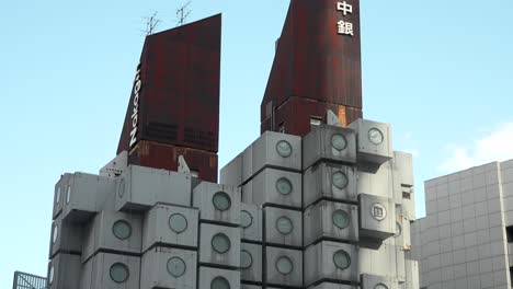
[(303, 247), (303, 213), (274, 207), (264, 208), (266, 244)]

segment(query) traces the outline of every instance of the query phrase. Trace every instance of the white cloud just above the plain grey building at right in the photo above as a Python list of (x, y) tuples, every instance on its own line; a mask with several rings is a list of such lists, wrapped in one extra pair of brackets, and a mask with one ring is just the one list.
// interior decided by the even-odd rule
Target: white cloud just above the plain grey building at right
[(513, 123), (506, 123), (469, 146), (448, 146), (451, 158), (438, 171), (453, 173), (476, 165), (513, 159)]

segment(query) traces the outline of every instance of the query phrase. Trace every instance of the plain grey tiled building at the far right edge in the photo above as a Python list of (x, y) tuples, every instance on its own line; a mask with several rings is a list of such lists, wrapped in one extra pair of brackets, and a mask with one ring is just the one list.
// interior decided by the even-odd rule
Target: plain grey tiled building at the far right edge
[(426, 181), (425, 201), (411, 228), (421, 288), (511, 288), (513, 160)]

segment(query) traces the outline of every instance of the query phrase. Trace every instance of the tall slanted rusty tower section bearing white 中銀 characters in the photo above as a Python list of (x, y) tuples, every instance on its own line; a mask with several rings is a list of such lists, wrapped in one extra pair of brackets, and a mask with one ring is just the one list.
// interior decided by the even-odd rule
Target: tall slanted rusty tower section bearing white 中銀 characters
[[(345, 16), (342, 11), (338, 11), (338, 2), (290, 2), (261, 104), (262, 123), (266, 123), (270, 111), (278, 111), (293, 96), (361, 111), (360, 0), (346, 1), (352, 5), (352, 12)], [(341, 20), (353, 24), (352, 36), (338, 34), (337, 24)], [(300, 114), (294, 112), (285, 118)], [(349, 114), (352, 115), (353, 112)], [(280, 122), (276, 117), (271, 117), (273, 126)], [(266, 124), (262, 125), (262, 131), (264, 126)], [(305, 134), (299, 131), (299, 135)]]

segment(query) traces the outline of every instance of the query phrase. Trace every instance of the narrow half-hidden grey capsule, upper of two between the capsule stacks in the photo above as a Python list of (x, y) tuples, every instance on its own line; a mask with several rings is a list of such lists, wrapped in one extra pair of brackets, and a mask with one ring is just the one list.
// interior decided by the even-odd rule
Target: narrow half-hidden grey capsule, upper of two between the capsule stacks
[(262, 207), (241, 203), (240, 228), (242, 240), (261, 243), (263, 230)]

